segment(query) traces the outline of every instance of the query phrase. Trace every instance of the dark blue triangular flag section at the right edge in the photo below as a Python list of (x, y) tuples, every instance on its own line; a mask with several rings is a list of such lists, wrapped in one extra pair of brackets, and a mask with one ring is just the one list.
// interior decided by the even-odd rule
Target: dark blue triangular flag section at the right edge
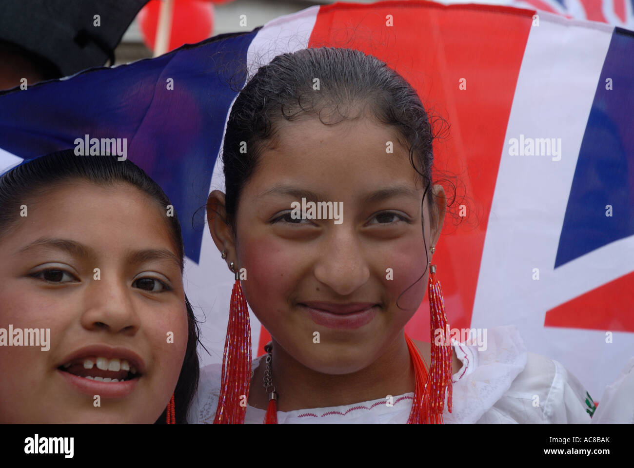
[(581, 141), (555, 268), (634, 235), (633, 51), (634, 33), (615, 28)]

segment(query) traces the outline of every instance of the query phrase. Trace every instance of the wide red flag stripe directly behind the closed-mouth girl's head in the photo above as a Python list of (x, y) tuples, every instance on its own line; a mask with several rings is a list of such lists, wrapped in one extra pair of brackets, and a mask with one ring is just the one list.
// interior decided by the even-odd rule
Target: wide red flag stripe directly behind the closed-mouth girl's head
[[(442, 109), (450, 122), (451, 137), (434, 145), (435, 165), (458, 176), (467, 189), (469, 216), (479, 213), (477, 227), (465, 223), (441, 235), (434, 254), (452, 327), (470, 327), (500, 155), (534, 13), (424, 1), (336, 3), (320, 7), (309, 41), (309, 47), (356, 48), (377, 56), (417, 89), (427, 109)], [(392, 27), (386, 25), (387, 15)], [(466, 90), (458, 89), (462, 78)], [(451, 228), (449, 218), (446, 227)], [(429, 338), (426, 298), (406, 331)], [(268, 340), (262, 328), (261, 349)]]

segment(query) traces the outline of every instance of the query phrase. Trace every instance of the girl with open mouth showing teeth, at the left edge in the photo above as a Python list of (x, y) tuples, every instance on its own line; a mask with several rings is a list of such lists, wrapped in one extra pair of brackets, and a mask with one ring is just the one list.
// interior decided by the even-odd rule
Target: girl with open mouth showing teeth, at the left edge
[(51, 342), (0, 348), (0, 423), (186, 422), (198, 328), (169, 204), (115, 156), (67, 150), (1, 176), (0, 327)]

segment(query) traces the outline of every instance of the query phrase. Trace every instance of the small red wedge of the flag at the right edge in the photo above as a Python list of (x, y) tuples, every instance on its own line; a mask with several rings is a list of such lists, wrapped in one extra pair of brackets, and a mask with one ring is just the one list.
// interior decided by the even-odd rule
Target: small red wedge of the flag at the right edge
[(550, 309), (544, 326), (631, 333), (634, 332), (632, 304), (634, 272)]

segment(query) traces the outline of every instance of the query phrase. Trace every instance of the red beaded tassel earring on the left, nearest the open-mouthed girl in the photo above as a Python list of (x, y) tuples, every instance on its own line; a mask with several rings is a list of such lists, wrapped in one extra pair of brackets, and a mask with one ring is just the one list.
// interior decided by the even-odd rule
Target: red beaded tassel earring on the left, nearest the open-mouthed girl
[[(226, 251), (223, 250), (223, 259)], [(230, 263), (234, 271), (233, 262)], [(231, 292), (229, 323), (224, 341), (223, 374), (214, 424), (244, 424), (251, 380), (249, 309), (240, 285), (240, 272)]]

